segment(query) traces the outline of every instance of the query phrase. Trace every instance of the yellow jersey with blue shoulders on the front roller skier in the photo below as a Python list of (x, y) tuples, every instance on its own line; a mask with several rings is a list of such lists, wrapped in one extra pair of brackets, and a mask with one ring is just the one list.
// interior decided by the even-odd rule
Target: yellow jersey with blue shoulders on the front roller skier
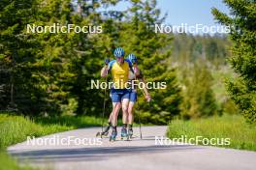
[(112, 71), (112, 81), (114, 89), (125, 89), (125, 83), (129, 79), (129, 71), (132, 70), (132, 63), (129, 60), (124, 60), (122, 65), (118, 65), (116, 60), (112, 60), (109, 64), (109, 71)]

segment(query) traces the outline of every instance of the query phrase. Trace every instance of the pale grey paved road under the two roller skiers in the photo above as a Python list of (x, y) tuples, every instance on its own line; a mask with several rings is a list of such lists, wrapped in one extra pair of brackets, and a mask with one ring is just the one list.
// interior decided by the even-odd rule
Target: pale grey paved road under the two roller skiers
[[(89, 170), (135, 170), (135, 169), (180, 169), (180, 170), (255, 170), (256, 152), (193, 146), (187, 144), (155, 145), (155, 136), (165, 136), (166, 127), (144, 127), (144, 139), (135, 128), (132, 141), (110, 142), (108, 138), (93, 138), (99, 128), (81, 128), (37, 138), (38, 144), (23, 142), (8, 148), (20, 163), (52, 169)], [(52, 143), (77, 138), (84, 145)], [(43, 141), (46, 144), (43, 145)], [(48, 141), (47, 141), (48, 140)], [(50, 143), (51, 140), (51, 143)], [(41, 142), (41, 143), (40, 143)], [(88, 144), (92, 145), (88, 145)], [(169, 143), (167, 143), (169, 144)]]

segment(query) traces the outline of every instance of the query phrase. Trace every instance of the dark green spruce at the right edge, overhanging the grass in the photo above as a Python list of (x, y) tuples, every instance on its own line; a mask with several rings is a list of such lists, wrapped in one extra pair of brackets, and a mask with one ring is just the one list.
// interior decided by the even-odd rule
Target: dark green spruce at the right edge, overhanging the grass
[(249, 123), (256, 122), (256, 3), (255, 0), (224, 0), (231, 16), (212, 9), (212, 14), (222, 24), (231, 27), (234, 42), (233, 56), (229, 59), (239, 74), (235, 81), (227, 82), (231, 98), (238, 104)]

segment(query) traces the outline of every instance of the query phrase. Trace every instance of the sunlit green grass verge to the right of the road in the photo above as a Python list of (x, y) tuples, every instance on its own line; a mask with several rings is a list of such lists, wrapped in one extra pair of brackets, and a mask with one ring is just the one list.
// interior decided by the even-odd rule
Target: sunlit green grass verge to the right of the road
[[(195, 138), (230, 138), (230, 145), (217, 147), (234, 148), (240, 150), (256, 151), (256, 127), (249, 126), (239, 115), (224, 115), (191, 121), (175, 120), (170, 123), (168, 136), (170, 139), (181, 136)], [(202, 142), (199, 142), (202, 145)]]

